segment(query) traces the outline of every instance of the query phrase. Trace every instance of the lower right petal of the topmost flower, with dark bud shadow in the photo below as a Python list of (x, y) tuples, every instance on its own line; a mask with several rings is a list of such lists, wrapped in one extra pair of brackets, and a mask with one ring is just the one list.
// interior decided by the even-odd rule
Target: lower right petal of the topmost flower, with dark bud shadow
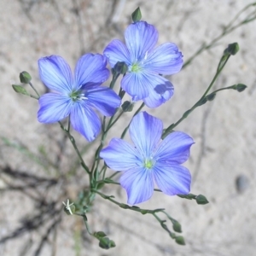
[(143, 99), (143, 102), (148, 108), (159, 107), (168, 101), (174, 93), (174, 88), (170, 81), (160, 76), (155, 76), (154, 79), (158, 79), (160, 84), (156, 85), (154, 90), (150, 90), (148, 97)]

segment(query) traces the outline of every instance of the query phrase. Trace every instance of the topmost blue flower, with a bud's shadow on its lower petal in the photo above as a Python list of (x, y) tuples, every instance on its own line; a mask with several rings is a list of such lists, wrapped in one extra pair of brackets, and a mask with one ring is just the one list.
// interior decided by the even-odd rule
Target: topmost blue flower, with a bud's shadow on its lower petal
[(149, 108), (156, 108), (173, 95), (173, 85), (160, 76), (172, 75), (183, 66), (183, 55), (176, 44), (166, 43), (155, 48), (158, 32), (145, 21), (132, 23), (125, 31), (125, 44), (114, 39), (104, 50), (111, 67), (124, 61), (128, 73), (121, 87), (133, 101), (143, 100)]

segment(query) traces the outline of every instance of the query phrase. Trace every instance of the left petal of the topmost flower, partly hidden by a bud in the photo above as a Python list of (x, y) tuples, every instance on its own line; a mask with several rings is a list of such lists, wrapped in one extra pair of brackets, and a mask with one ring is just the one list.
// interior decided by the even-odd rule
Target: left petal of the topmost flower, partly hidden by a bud
[(129, 50), (126, 45), (118, 39), (114, 39), (110, 44), (108, 44), (106, 49), (104, 49), (103, 54), (108, 57), (111, 67), (114, 67), (118, 61), (124, 61), (127, 66), (131, 65)]

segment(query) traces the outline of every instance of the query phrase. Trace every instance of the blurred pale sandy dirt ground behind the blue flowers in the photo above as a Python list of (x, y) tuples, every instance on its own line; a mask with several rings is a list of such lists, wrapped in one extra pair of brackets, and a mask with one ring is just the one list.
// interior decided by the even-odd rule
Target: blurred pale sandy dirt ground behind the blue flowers
[[(177, 121), (206, 90), (227, 44), (240, 44), (215, 89), (243, 83), (247, 90), (219, 93), (177, 126), (195, 139), (186, 163), (194, 177), (191, 193), (206, 195), (210, 203), (198, 206), (195, 201), (155, 193), (140, 205), (165, 207), (182, 224), (185, 247), (172, 241), (151, 216), (97, 198), (88, 214), (91, 230), (105, 231), (117, 245), (109, 251), (99, 248), (81, 218), (61, 211), (61, 201), (76, 200), (87, 183), (79, 167), (71, 170), (76, 160), (73, 148), (69, 142), (61, 143), (63, 133), (57, 124), (38, 123), (36, 100), (15, 94), (11, 87), (19, 84), (19, 73), (26, 70), (43, 93), (38, 58), (61, 55), (74, 67), (81, 54), (102, 53), (112, 38), (123, 38), (137, 6), (143, 20), (159, 30), (159, 44), (176, 43), (186, 61), (248, 3), (252, 2), (0, 1), (0, 255), (256, 255), (256, 21), (230, 33), (173, 76), (172, 100), (148, 110), (166, 126)], [(125, 116), (112, 135), (117, 136), (127, 120)], [(83, 148), (84, 139), (75, 137)], [(90, 155), (85, 160), (90, 162)], [(46, 167), (49, 162), (53, 166)], [(122, 189), (108, 185), (105, 193), (125, 202)]]

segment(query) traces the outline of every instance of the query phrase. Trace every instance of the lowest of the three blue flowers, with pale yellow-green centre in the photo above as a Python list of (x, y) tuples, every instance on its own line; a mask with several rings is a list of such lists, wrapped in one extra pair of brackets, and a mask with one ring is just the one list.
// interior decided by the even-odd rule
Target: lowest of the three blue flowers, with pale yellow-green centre
[(113, 138), (100, 156), (115, 171), (124, 171), (120, 184), (131, 205), (147, 201), (154, 192), (154, 182), (166, 195), (188, 194), (191, 175), (181, 166), (189, 158), (193, 139), (173, 131), (160, 140), (163, 123), (146, 112), (138, 113), (129, 128), (135, 146)]

